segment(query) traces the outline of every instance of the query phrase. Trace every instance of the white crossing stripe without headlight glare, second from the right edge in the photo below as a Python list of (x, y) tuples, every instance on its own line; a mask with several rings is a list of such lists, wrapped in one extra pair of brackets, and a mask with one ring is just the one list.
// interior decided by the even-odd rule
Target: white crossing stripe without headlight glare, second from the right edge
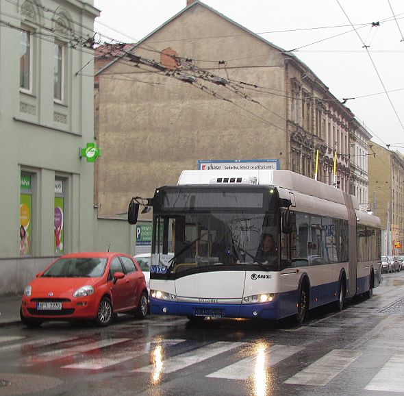
[(284, 384), (324, 386), (346, 369), (354, 360), (362, 355), (362, 351), (348, 349), (333, 349), (327, 355), (299, 371)]

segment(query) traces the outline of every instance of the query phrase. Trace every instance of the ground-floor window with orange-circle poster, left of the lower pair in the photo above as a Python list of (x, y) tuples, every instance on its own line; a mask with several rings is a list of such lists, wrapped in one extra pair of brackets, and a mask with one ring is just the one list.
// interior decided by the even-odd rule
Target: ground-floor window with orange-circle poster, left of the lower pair
[(32, 175), (20, 176), (20, 255), (31, 254), (32, 230)]

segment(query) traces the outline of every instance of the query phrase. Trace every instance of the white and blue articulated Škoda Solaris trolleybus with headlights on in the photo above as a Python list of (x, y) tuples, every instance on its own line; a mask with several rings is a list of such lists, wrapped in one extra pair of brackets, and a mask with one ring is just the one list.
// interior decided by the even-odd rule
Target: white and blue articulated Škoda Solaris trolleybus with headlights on
[(370, 297), (381, 282), (379, 218), (291, 171), (183, 171), (153, 206), (152, 314), (281, 319)]

